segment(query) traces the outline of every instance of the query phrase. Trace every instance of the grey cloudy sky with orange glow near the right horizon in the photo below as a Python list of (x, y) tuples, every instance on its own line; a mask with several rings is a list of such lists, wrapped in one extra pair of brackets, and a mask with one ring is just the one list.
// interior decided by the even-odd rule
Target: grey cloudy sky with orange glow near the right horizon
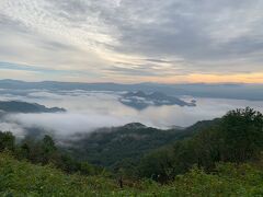
[(0, 79), (263, 83), (262, 0), (0, 0)]

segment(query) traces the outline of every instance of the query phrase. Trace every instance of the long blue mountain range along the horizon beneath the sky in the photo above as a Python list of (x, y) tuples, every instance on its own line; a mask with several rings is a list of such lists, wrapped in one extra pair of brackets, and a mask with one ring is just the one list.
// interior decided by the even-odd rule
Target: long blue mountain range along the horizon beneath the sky
[(159, 83), (138, 83), (138, 84), (117, 84), (117, 83), (77, 83), (77, 82), (24, 82), (16, 80), (0, 80), (0, 89), (4, 90), (85, 90), (85, 91), (144, 91), (162, 92), (171, 96), (191, 95), (194, 97), (217, 97), (263, 101), (263, 84), (159, 84)]

